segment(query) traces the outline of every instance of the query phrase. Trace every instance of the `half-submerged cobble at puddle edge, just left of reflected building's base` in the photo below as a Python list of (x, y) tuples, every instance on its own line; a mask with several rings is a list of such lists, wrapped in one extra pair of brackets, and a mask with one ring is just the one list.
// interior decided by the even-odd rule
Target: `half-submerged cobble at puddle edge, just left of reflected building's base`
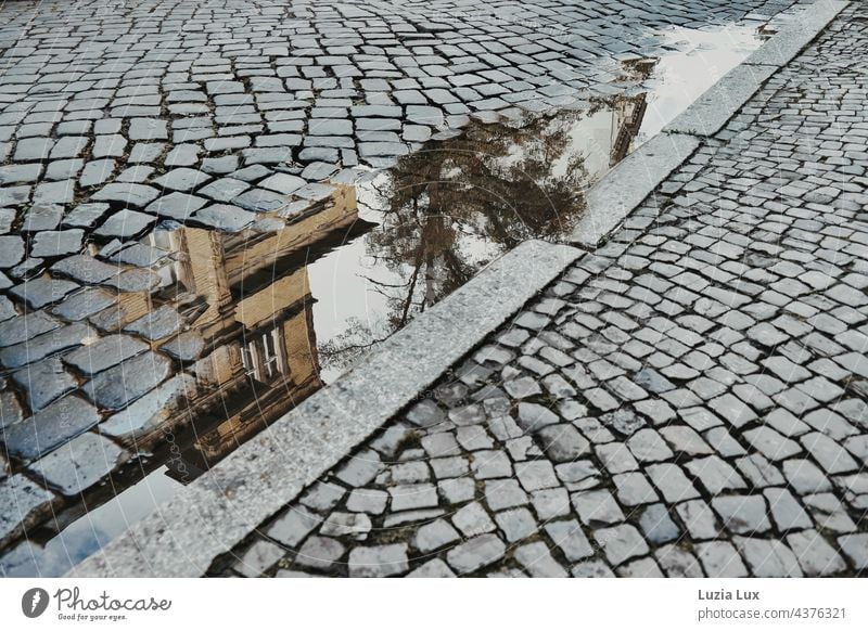
[(177, 427), (187, 418), (187, 400), (196, 391), (195, 379), (181, 373), (161, 384), (117, 414), (110, 416), (100, 432), (139, 447), (150, 445), (164, 429)]

